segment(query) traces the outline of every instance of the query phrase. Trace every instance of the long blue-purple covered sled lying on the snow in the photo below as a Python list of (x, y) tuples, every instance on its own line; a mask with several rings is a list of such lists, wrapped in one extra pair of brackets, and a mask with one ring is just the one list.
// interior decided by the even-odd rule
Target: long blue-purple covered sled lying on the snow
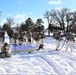
[(36, 46), (33, 45), (10, 45), (11, 52), (34, 52), (36, 51)]

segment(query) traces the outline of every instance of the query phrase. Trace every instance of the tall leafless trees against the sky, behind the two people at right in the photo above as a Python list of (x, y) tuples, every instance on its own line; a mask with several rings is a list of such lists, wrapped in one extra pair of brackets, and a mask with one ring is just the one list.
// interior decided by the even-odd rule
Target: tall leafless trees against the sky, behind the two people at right
[(48, 30), (63, 30), (76, 33), (76, 11), (71, 11), (68, 8), (61, 10), (53, 9), (45, 11), (44, 17), (48, 22)]

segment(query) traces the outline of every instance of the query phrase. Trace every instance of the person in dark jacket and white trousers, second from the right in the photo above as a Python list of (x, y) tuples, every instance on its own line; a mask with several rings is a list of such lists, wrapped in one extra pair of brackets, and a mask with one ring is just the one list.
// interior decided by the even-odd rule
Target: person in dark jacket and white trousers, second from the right
[(60, 47), (60, 41), (62, 40), (61, 32), (55, 32), (53, 34), (53, 38), (56, 41), (56, 50), (59, 50)]

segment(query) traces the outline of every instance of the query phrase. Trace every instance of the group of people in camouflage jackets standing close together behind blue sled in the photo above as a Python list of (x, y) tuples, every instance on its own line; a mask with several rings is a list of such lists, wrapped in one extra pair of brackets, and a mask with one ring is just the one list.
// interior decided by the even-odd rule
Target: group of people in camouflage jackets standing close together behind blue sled
[(36, 45), (37, 50), (43, 47), (44, 32), (41, 30), (37, 31), (24, 31), (14, 35), (14, 45)]

